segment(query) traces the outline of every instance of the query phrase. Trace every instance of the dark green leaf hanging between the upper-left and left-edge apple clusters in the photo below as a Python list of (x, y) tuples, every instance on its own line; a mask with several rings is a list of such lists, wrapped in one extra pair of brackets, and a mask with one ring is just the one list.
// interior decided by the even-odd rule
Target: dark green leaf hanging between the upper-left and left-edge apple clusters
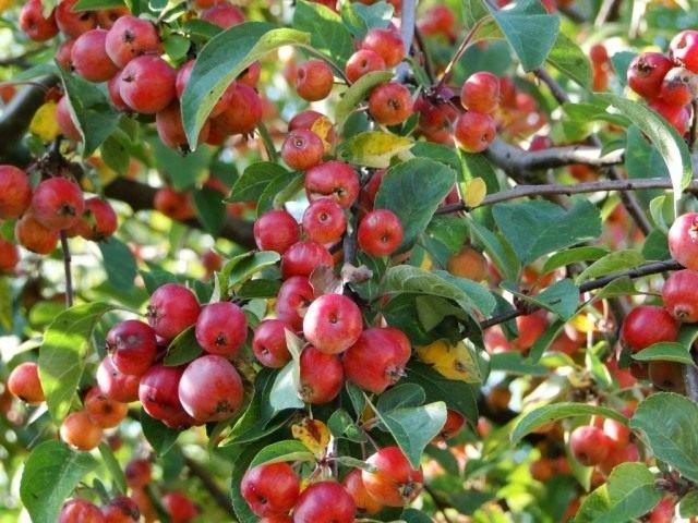
[(70, 102), (70, 112), (83, 137), (82, 154), (87, 157), (117, 129), (121, 114), (96, 84), (62, 69), (59, 69), (59, 73)]

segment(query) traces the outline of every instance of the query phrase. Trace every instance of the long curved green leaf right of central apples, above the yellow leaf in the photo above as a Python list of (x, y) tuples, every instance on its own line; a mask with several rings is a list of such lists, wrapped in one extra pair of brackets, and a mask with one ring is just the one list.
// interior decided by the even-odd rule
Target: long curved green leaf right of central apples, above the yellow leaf
[[(386, 294), (429, 294), (455, 300), (469, 314), (479, 311), (486, 316), (494, 309), (494, 297), (485, 289), (450, 275), (447, 278), (446, 275), (443, 271), (432, 272), (411, 265), (397, 265), (387, 270), (383, 290)], [(477, 287), (478, 294), (467, 292), (466, 285), (469, 290)]]

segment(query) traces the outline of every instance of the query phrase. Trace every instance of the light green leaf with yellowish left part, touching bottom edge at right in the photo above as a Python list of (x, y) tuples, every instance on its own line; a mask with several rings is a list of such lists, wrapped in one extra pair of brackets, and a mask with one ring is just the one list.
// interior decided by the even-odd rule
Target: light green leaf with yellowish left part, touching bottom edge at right
[(623, 463), (613, 470), (609, 483), (585, 498), (575, 523), (635, 521), (652, 510), (661, 498), (654, 474), (647, 465)]

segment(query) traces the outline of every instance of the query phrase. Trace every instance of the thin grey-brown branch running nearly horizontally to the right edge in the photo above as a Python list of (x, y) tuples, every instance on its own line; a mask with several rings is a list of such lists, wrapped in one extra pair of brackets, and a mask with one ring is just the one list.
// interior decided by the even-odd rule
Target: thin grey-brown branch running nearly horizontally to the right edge
[[(478, 207), (498, 204), (509, 199), (526, 198), (530, 196), (552, 196), (552, 195), (573, 195), (585, 193), (597, 193), (602, 191), (640, 191), (648, 188), (672, 188), (672, 181), (666, 178), (643, 178), (636, 180), (600, 180), (597, 182), (576, 183), (574, 185), (517, 185), (508, 191), (490, 194), (478, 206), (470, 207), (464, 203), (445, 205), (438, 210), (437, 215), (445, 215), (458, 211), (471, 211)], [(698, 192), (698, 180), (690, 182), (686, 192)]]

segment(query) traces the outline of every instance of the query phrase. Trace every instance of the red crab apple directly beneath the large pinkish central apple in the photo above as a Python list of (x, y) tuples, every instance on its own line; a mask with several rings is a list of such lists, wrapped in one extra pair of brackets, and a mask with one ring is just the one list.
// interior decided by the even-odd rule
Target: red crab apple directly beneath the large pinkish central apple
[(298, 396), (305, 403), (327, 403), (339, 394), (345, 382), (341, 361), (336, 354), (325, 354), (313, 345), (306, 345), (300, 357), (300, 390)]

